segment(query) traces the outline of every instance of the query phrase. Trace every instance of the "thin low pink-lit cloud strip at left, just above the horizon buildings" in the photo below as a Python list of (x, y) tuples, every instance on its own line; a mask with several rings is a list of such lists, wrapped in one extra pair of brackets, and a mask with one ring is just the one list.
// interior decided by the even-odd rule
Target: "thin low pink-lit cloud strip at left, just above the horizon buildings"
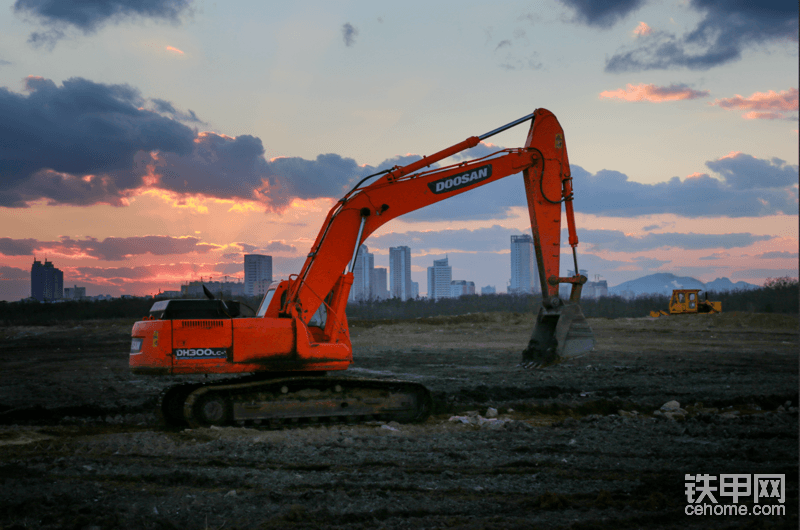
[(59, 241), (0, 238), (0, 254), (5, 256), (30, 256), (36, 251), (49, 250), (65, 255), (87, 256), (106, 261), (120, 261), (141, 254), (155, 256), (191, 252), (205, 254), (217, 248), (221, 247), (201, 243), (200, 239), (196, 237), (107, 237), (102, 241), (94, 237), (72, 239), (69, 236), (61, 236)]

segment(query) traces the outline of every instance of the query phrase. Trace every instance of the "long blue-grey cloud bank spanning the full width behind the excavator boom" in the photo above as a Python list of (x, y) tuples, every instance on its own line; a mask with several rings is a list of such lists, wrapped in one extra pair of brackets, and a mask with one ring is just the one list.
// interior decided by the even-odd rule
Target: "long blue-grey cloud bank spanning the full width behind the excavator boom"
[[(27, 95), (0, 89), (0, 122), (6, 124), (0, 129), (0, 207), (26, 207), (42, 199), (49, 204), (123, 206), (132, 195), (155, 189), (181, 200), (249, 200), (282, 211), (295, 198), (339, 198), (367, 175), (420, 159), (396, 156), (377, 167), (360, 166), (335, 153), (312, 160), (267, 159), (259, 138), (198, 133), (179, 121), (196, 120), (192, 111), (185, 114), (164, 100), (145, 99), (127, 85), (74, 78), (57, 87), (32, 77), (27, 86)], [(483, 157), (501, 149), (482, 143), (454, 158)], [(722, 178), (697, 173), (640, 184), (616, 171), (592, 175), (574, 165), (575, 207), (622, 217), (797, 212), (796, 166), (742, 153), (707, 166)], [(521, 176), (510, 176), (404, 219), (500, 219), (508, 217), (510, 207), (526, 204)]]

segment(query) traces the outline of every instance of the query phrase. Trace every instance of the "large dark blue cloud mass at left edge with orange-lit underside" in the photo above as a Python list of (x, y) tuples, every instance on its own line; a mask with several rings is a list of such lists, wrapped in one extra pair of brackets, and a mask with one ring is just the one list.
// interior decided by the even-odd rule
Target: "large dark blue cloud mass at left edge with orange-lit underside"
[[(115, 204), (119, 190), (142, 183), (134, 171), (138, 152), (192, 150), (194, 131), (142, 110), (145, 100), (128, 85), (72, 78), (57, 87), (29, 77), (26, 89), (28, 95), (0, 88), (0, 206), (74, 196)], [(37, 177), (42, 171), (50, 173)]]

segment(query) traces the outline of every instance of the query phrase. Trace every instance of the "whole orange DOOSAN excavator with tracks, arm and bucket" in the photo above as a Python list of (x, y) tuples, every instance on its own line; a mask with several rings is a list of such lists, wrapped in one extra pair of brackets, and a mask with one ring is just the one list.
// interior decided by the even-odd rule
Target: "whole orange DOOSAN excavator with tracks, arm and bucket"
[[(527, 121), (525, 147), (434, 166)], [(551, 112), (538, 109), (361, 180), (328, 212), (300, 273), (274, 282), (258, 310), (214, 299), (208, 292), (207, 300), (156, 302), (133, 327), (131, 370), (151, 375), (249, 374), (168, 388), (158, 399), (157, 413), (172, 425), (424, 420), (432, 400), (418, 383), (327, 375), (353, 362), (345, 308), (359, 248), (395, 217), (520, 172), (543, 295), (521, 365), (545, 367), (591, 351), (594, 336), (578, 304), (586, 277), (559, 276), (562, 204), (574, 270), (580, 270), (564, 131)], [(572, 285), (569, 300), (559, 297), (559, 284)]]

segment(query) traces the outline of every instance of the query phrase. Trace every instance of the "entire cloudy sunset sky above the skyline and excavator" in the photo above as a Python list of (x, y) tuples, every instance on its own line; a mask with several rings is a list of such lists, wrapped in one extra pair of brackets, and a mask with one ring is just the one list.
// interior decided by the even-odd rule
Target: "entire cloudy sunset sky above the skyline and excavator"
[[(360, 178), (540, 107), (565, 130), (590, 277), (798, 275), (796, 1), (0, 10), (3, 300), (30, 296), (34, 255), (88, 295), (242, 278), (245, 253), (285, 278)], [(378, 267), (411, 247), (421, 293), (445, 255), (453, 279), (504, 292), (509, 236), (526, 228), (514, 175), (366, 244)]]

